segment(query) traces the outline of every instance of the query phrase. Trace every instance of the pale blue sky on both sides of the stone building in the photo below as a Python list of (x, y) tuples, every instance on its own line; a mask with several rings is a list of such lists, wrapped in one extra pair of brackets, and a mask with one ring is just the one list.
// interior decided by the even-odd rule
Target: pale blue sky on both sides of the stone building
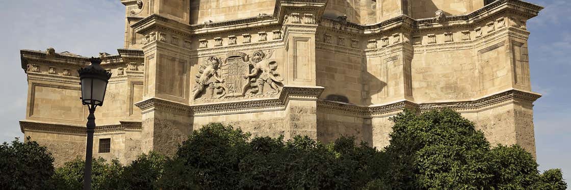
[[(70, 51), (83, 56), (116, 54), (123, 47), (124, 6), (119, 0), (0, 0), (0, 142), (21, 137), (26, 113), (26, 75), (19, 50)], [(571, 1), (528, 0), (544, 6), (528, 22), (534, 124), (540, 170), (562, 168), (571, 179)], [(79, 102), (78, 102), (79, 103)]]

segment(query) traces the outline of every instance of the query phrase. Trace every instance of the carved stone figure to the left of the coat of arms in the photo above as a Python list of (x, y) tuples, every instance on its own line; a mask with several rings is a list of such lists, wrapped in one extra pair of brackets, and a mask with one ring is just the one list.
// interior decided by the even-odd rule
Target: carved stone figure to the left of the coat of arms
[[(206, 64), (200, 66), (200, 69), (198, 70), (199, 74), (196, 75), (197, 84), (196, 86), (194, 86), (194, 89), (192, 90), (194, 92), (194, 94), (192, 95), (192, 99), (198, 98), (200, 92), (204, 91), (206, 87), (216, 88), (216, 89), (222, 88), (222, 90), (224, 91), (223, 93), (226, 93), (226, 88), (224, 88), (224, 86), (221, 85), (221, 83), (224, 83), (224, 79), (220, 78), (220, 76), (218, 75), (218, 70), (220, 68), (219, 66), (220, 66), (220, 59), (215, 56), (211, 56), (206, 60)], [(221, 98), (223, 96), (224, 94), (220, 95), (218, 98)]]

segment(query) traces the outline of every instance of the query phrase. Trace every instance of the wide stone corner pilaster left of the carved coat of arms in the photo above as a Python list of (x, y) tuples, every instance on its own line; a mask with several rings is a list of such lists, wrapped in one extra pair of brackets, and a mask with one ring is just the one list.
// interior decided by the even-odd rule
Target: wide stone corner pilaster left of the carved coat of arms
[[(166, 6), (166, 5), (164, 5)], [(134, 25), (144, 36), (142, 150), (174, 153), (176, 144), (192, 132), (190, 101), (190, 41), (175, 19), (152, 15)]]

